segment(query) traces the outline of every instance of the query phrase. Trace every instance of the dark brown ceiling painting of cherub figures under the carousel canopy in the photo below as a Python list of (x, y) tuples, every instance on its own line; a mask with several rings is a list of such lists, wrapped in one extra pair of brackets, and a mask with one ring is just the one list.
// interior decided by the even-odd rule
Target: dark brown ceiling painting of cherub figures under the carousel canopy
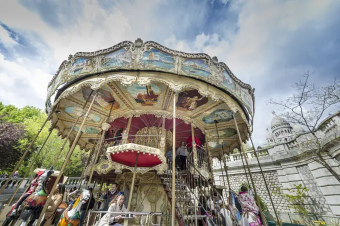
[(195, 89), (183, 91), (178, 94), (176, 106), (179, 110), (192, 111), (195, 108), (205, 104), (208, 101), (207, 97), (201, 96)]

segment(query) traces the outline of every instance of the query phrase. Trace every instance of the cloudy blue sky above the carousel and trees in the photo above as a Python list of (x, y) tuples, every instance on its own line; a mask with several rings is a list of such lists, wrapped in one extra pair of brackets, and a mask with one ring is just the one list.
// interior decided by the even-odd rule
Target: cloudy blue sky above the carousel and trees
[(301, 75), (330, 83), (340, 71), (337, 0), (7, 0), (0, 7), (0, 101), (44, 108), (47, 83), (77, 51), (153, 40), (217, 56), (255, 88), (253, 141), (265, 143), (269, 98)]

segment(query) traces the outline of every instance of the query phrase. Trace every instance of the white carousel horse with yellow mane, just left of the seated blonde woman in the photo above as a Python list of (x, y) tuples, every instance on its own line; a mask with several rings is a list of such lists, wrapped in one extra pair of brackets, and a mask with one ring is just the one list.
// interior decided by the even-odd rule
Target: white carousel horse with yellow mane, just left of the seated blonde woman
[(89, 190), (82, 190), (82, 193), (74, 202), (71, 209), (67, 208), (60, 216), (57, 226), (77, 226), (80, 223), (80, 208), (90, 197)]

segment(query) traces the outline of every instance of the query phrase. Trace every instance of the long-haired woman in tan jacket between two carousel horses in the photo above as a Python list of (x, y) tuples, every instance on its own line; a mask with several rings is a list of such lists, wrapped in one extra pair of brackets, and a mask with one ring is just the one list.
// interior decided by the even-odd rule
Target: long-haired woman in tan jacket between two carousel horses
[(52, 199), (48, 203), (45, 216), (40, 225), (43, 225), (43, 226), (52, 225), (52, 220), (54, 217), (55, 210), (60, 205), (64, 193), (65, 193), (65, 185), (63, 183), (58, 183), (55, 187), (54, 193), (52, 195)]

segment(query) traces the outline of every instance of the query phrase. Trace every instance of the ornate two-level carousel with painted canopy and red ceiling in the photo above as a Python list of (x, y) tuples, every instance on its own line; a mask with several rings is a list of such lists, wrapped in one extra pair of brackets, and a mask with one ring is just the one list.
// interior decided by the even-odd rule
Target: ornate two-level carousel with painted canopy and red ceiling
[[(251, 214), (243, 217), (248, 224), (237, 219), (228, 180), (214, 184), (212, 158), (224, 160), (227, 176), (225, 158), (234, 148), (244, 154), (254, 114), (254, 89), (217, 57), (139, 38), (77, 52), (49, 82), (46, 113), (45, 123), (71, 143), (59, 175), (79, 145), (89, 156), (82, 177), (87, 186), (99, 186), (83, 225), (95, 225), (107, 211), (99, 191), (110, 191), (113, 183), (130, 213), (120, 219), (124, 225), (260, 224), (251, 224)], [(255, 187), (254, 199), (258, 203)], [(60, 217), (67, 214), (71, 219), (69, 213)], [(57, 225), (77, 225), (61, 218)]]

